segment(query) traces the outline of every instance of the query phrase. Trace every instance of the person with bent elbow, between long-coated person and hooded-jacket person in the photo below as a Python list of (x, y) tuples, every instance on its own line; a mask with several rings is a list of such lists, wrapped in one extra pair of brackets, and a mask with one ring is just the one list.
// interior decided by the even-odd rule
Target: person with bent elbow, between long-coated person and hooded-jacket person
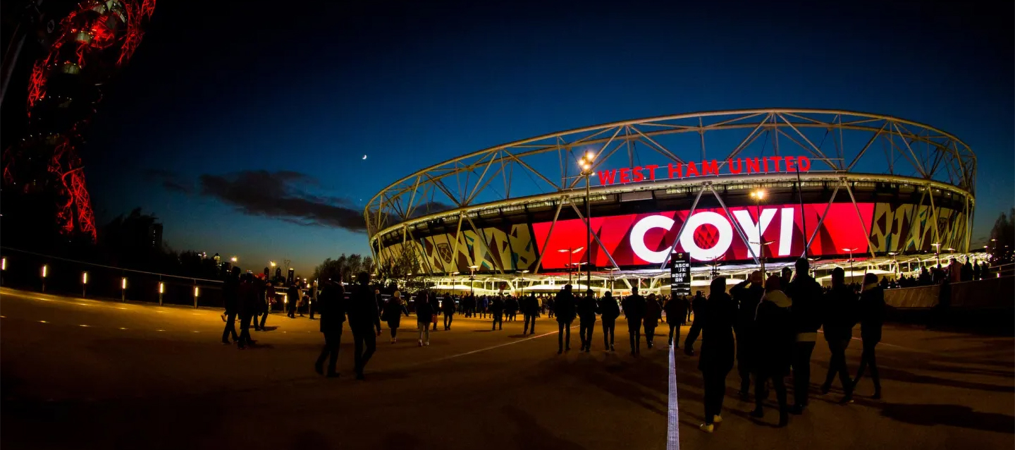
[(764, 278), (761, 271), (751, 272), (749, 280), (740, 282), (730, 290), (737, 303), (737, 322), (733, 331), (737, 334), (737, 373), (740, 375), (740, 399), (747, 401), (750, 395), (751, 374), (755, 371), (757, 345), (754, 342), (754, 314), (764, 296)]

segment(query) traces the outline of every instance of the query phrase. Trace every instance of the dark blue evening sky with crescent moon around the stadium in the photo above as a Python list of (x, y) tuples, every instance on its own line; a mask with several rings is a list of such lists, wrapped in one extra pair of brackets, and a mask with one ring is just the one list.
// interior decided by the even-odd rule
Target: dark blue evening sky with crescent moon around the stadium
[[(369, 253), (321, 205), (507, 141), (719, 109), (927, 123), (978, 156), (974, 239), (1015, 203), (1011, 4), (218, 3), (158, 5), (86, 150), (99, 220), (141, 206), (177, 250), (310, 270)], [(293, 186), (306, 204), (250, 204)]]

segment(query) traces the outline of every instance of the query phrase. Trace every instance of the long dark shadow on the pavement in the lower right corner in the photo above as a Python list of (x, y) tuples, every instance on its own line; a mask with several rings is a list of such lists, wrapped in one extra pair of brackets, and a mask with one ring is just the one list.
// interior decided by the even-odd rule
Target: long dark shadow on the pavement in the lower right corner
[(1015, 434), (1015, 416), (977, 412), (958, 404), (886, 403), (881, 415), (913, 425), (951, 427)]

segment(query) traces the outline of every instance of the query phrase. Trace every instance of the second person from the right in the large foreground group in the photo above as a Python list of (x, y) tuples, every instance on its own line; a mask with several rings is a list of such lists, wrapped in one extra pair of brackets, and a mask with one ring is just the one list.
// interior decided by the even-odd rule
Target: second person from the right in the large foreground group
[(845, 285), (845, 271), (841, 267), (831, 271), (831, 291), (824, 295), (822, 323), (831, 360), (828, 362), (828, 374), (821, 384), (821, 393), (827, 394), (831, 390), (831, 383), (837, 375), (845, 392), (840, 402), (849, 403), (853, 401), (853, 380), (845, 365), (845, 348), (853, 340), (853, 327), (857, 325), (857, 295)]

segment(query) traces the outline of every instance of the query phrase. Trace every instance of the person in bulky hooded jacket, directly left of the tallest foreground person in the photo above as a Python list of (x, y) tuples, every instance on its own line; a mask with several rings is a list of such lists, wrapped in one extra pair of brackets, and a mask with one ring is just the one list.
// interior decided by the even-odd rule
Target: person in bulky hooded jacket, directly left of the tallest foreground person
[(793, 303), (783, 292), (779, 275), (771, 275), (764, 283), (764, 297), (758, 303), (754, 316), (757, 342), (757, 374), (754, 377), (754, 410), (751, 416), (764, 417), (764, 403), (767, 392), (765, 382), (771, 381), (779, 401), (779, 426), (790, 422), (786, 404), (786, 375), (790, 370), (795, 338), (793, 317), (790, 308)]

